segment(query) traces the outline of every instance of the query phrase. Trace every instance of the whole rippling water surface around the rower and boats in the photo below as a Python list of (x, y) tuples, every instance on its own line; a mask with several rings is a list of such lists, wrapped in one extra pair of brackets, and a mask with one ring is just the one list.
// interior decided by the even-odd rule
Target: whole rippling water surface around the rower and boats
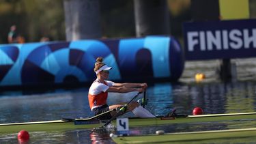
[[(154, 83), (147, 89), (147, 98), (150, 99), (146, 108), (154, 115), (165, 115), (173, 107), (177, 113), (191, 114), (195, 106), (200, 106), (204, 113), (243, 113), (256, 109), (256, 81), (244, 80), (248, 75), (238, 71), (244, 76), (243, 81), (236, 79), (232, 83), (216, 81), (214, 64), (188, 63), (181, 81), (184, 83)], [(241, 63), (240, 63), (241, 64)], [(199, 66), (200, 69), (195, 68)], [(203, 67), (203, 68), (202, 68)], [(188, 70), (189, 69), (189, 70)], [(238, 70), (241, 70), (241, 68)], [(203, 83), (195, 83), (194, 74), (204, 72)], [(248, 72), (245, 72), (248, 73)], [(246, 77), (246, 78), (245, 78)], [(253, 79), (253, 76), (251, 76)], [(61, 119), (63, 117), (88, 117), (93, 115), (87, 102), (87, 88), (44, 92), (5, 91), (0, 92), (0, 123), (44, 121)], [(111, 93), (109, 104), (128, 101), (136, 93)], [(132, 113), (124, 117), (132, 117)], [(198, 124), (171, 124), (169, 126), (148, 126), (143, 128), (130, 128), (134, 134), (152, 134), (156, 130), (165, 132), (186, 132), (196, 130), (221, 130), (231, 128), (254, 127), (256, 121), (226, 121)], [(113, 143), (109, 134), (115, 132), (107, 130), (67, 130), (64, 132), (30, 132), (29, 143)], [(18, 143), (17, 134), (0, 135), (0, 143)], [(254, 141), (243, 139), (248, 143)], [(256, 140), (255, 140), (256, 141)], [(209, 141), (205, 143), (214, 143)], [(223, 143), (239, 143), (226, 141)]]

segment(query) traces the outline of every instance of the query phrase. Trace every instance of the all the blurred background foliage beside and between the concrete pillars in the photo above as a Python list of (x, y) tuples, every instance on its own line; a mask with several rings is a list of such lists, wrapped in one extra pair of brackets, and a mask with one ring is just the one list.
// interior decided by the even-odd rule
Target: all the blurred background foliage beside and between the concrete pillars
[[(132, 0), (99, 0), (102, 35), (106, 38), (135, 36)], [(182, 38), (182, 23), (189, 21), (191, 0), (167, 0), (171, 14), (171, 35)], [(255, 0), (249, 0), (251, 18), (256, 17)], [(66, 40), (63, 0), (0, 0), (0, 43), (7, 43), (12, 25), (25, 42), (40, 38)]]

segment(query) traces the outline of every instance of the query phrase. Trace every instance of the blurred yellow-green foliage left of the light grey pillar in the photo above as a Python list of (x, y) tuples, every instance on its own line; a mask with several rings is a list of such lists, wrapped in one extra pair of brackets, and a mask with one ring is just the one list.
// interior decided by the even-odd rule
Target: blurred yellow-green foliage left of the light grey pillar
[(11, 25), (26, 42), (39, 42), (40, 38), (65, 40), (62, 0), (1, 0), (0, 43), (7, 43)]

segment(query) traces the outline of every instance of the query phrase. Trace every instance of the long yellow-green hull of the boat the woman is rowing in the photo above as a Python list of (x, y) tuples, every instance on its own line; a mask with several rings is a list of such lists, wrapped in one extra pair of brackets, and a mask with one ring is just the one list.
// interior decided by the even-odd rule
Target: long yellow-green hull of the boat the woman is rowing
[[(138, 126), (158, 126), (165, 124), (182, 124), (211, 121), (233, 121), (242, 119), (256, 119), (256, 113), (227, 113), (212, 115), (175, 115), (175, 117), (156, 118), (129, 118), (131, 127)], [(16, 133), (20, 130), (29, 132), (45, 132), (75, 129), (93, 129), (104, 125), (105, 121), (89, 117), (87, 119), (61, 119), (55, 121), (35, 121), (24, 123), (0, 124), (0, 134)], [(113, 120), (115, 123), (115, 120)]]

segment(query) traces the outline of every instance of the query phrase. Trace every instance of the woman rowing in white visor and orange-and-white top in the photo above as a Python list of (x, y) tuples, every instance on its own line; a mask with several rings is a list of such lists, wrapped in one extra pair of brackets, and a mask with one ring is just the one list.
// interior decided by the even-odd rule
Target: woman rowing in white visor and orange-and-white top
[[(99, 115), (100, 113), (120, 108), (126, 104), (123, 102), (109, 106), (106, 104), (108, 92), (143, 92), (147, 88), (146, 83), (114, 83), (113, 81), (107, 81), (109, 78), (109, 70), (111, 70), (112, 67), (106, 66), (102, 61), (102, 57), (98, 57), (96, 59), (94, 72), (96, 73), (97, 78), (94, 83), (91, 84), (88, 93), (89, 106), (91, 111), (94, 112), (94, 115)], [(132, 111), (132, 113), (137, 117), (155, 117), (152, 113), (144, 109), (138, 102), (131, 102), (128, 104), (126, 112), (128, 111)], [(111, 111), (111, 113), (106, 113), (99, 117), (99, 119), (111, 119), (111, 117), (116, 113), (116, 111)]]

